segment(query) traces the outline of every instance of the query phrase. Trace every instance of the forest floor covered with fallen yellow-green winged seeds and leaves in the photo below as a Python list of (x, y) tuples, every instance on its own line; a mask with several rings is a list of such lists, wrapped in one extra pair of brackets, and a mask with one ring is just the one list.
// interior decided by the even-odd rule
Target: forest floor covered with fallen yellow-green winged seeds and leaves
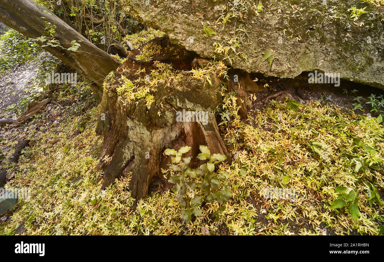
[[(25, 69), (10, 69), (0, 75), (0, 118), (20, 114), (12, 104), (31, 96), (14, 88), (22, 90), (33, 71), (27, 69), (24, 80)], [(140, 201), (130, 196), (130, 177), (101, 190), (103, 172), (96, 168), (95, 153), (101, 143), (95, 134), (100, 101), (81, 81), (75, 88), (56, 85), (46, 91), (45, 97), (63, 107), (50, 103), (19, 127), (0, 126), (0, 169), (21, 139), (31, 140), (10, 167), (15, 172), (6, 185), (28, 187), (31, 197), (0, 215), (0, 234), (382, 234), (384, 127), (379, 114), (367, 115), (372, 108), (365, 103), (371, 94), (382, 101), (384, 92), (349, 81), (334, 88), (308, 84), (303, 76), (258, 78), (268, 91), (252, 97), (248, 118), (220, 125), (234, 161), (218, 172), (229, 173), (232, 197), (225, 206), (206, 203), (189, 224), (161, 182)], [(303, 99), (295, 92), (297, 84)], [(291, 98), (263, 103), (285, 89)], [(362, 110), (356, 109), (359, 104)], [(344, 205), (331, 208), (338, 199)], [(357, 218), (351, 211), (355, 200)]]

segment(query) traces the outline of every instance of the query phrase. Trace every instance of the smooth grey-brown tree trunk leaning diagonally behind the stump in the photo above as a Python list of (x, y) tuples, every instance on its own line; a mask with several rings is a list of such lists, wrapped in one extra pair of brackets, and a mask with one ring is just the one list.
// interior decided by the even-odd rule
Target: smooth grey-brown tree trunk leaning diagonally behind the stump
[[(66, 22), (30, 0), (0, 0), (0, 21), (30, 38), (45, 35), (47, 25), (45, 21), (55, 25), (55, 39), (65, 48), (45, 46), (44, 49), (77, 70), (82, 76), (93, 80), (99, 87), (103, 85), (104, 78), (109, 72), (119, 66), (118, 61), (93, 45)], [(67, 50), (73, 40), (81, 41), (81, 46), (76, 52)], [(40, 41), (38, 44), (43, 45)], [(97, 95), (101, 93), (98, 90), (96, 92)]]

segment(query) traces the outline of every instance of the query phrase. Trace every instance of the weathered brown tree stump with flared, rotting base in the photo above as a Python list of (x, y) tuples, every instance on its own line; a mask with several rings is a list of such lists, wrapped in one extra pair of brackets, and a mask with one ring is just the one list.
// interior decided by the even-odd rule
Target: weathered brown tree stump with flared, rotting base
[[(137, 75), (138, 70), (145, 68), (145, 72), (151, 72), (155, 69), (152, 63), (134, 61), (132, 53), (135, 52), (137, 50), (133, 50), (127, 61), (116, 70), (113, 80), (106, 80), (96, 133), (104, 136), (100, 159), (110, 159), (101, 161), (99, 165), (105, 169), (103, 188), (119, 175), (131, 174), (131, 195), (142, 198), (147, 195), (154, 176), (162, 174), (161, 168), (168, 168), (168, 162), (163, 157), (165, 149), (178, 150), (181, 146), (191, 146), (192, 150), (185, 156), (192, 156), (192, 159), (199, 153), (200, 145), (208, 146), (211, 153), (229, 154), (215, 119), (215, 109), (222, 99), (218, 92), (221, 87), (218, 78), (212, 73), (210, 85), (207, 80), (179, 71), (181, 73), (177, 78), (157, 82), (152, 91), (154, 101), (150, 106), (144, 99), (127, 102), (124, 95), (118, 95), (116, 90), (122, 85), (122, 78), (137, 83), (139, 77), (144, 79), (146, 75)], [(171, 60), (167, 59), (172, 63)], [(207, 112), (206, 121), (178, 121), (189, 120), (177, 118), (177, 111), (183, 112), (183, 109)], [(191, 161), (191, 164), (200, 164), (197, 161), (195, 159), (195, 163)]]

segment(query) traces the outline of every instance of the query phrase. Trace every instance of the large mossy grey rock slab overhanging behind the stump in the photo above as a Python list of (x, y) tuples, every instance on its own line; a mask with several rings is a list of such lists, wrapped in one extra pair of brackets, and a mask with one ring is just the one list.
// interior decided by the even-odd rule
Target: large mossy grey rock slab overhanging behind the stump
[[(224, 37), (238, 36), (240, 32), (233, 33), (233, 29), (243, 24), (249, 40), (243, 41), (244, 47), (236, 49), (237, 56), (230, 50), (234, 68), (281, 78), (319, 70), (340, 73), (341, 78), (384, 89), (383, 9), (356, 0), (263, 0), (263, 10), (257, 15), (256, 1), (226, 3), (222, 0), (122, 0), (127, 12), (164, 31), (173, 43), (202, 57), (219, 57), (214, 43)], [(217, 23), (222, 5), (227, 10), (231, 5), (232, 15), (239, 17), (241, 13), (244, 22), (238, 20), (235, 25), (235, 18), (230, 18), (232, 21), (223, 28)], [(366, 13), (354, 21), (351, 10), (348, 11), (352, 6), (366, 7)], [(239, 13), (240, 8), (243, 12)], [(244, 10), (248, 10), (247, 17)], [(203, 25), (217, 35), (202, 33)], [(268, 49), (273, 50), (271, 66), (268, 61), (262, 61)], [(240, 52), (247, 59), (240, 58)], [(225, 61), (230, 63), (228, 59)]]

